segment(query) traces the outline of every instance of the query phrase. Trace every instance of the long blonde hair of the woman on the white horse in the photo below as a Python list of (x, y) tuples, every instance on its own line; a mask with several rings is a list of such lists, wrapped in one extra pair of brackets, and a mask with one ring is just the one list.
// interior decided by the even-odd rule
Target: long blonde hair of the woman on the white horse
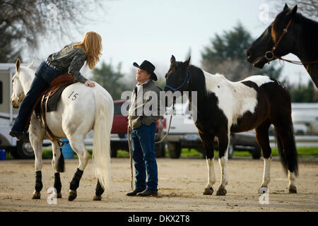
[(73, 44), (72, 47), (83, 49), (87, 56), (86, 65), (93, 69), (100, 61), (100, 55), (102, 54), (102, 37), (98, 33), (90, 31), (85, 34), (83, 41)]

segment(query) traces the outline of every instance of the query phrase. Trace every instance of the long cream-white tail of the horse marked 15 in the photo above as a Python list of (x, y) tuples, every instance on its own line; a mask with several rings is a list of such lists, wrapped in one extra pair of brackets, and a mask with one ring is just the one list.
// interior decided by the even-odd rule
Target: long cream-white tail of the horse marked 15
[(114, 117), (114, 102), (104, 88), (98, 84), (96, 86), (93, 88), (96, 105), (93, 128), (93, 165), (95, 176), (105, 191), (109, 191), (110, 183), (112, 182), (110, 172), (110, 132)]

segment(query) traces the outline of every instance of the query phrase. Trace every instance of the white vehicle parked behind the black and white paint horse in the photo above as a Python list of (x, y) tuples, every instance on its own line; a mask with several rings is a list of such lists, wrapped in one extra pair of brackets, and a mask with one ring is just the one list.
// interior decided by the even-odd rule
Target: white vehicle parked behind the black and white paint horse
[[(171, 108), (167, 109), (165, 114), (167, 125), (170, 124), (171, 111)], [(166, 132), (166, 130), (167, 128), (164, 129), (164, 132)], [(217, 150), (217, 139), (215, 142), (215, 148)], [(188, 102), (175, 105), (175, 114), (172, 116), (170, 132), (167, 136), (167, 147), (169, 149), (169, 155), (172, 158), (179, 158), (182, 148), (194, 148), (200, 153), (204, 153), (204, 146), (199, 138), (198, 129), (196, 129), (190, 115)], [(255, 139), (254, 130), (242, 133), (231, 133), (228, 158), (232, 158), (233, 152), (237, 150), (248, 150), (252, 153), (254, 159), (261, 157), (261, 148), (259, 148)]]

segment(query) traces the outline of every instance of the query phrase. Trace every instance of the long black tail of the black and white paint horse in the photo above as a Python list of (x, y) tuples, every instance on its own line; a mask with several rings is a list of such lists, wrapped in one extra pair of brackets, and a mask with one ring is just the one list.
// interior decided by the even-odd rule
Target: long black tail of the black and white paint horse
[[(295, 144), (293, 123), (290, 123), (288, 131), (285, 131), (284, 134), (279, 134), (276, 129), (276, 138), (277, 138), (277, 147), (278, 153), (281, 158), (281, 163), (283, 164), (283, 169), (287, 174), (288, 169), (290, 172), (294, 172), (295, 175), (298, 175), (298, 153)], [(282, 143), (282, 138), (285, 140), (285, 145)]]

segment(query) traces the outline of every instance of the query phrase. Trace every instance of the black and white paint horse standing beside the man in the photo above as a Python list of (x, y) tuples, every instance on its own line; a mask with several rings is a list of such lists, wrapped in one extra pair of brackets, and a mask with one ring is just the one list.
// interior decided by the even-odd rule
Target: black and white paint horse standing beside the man
[[(216, 183), (214, 173), (214, 138), (218, 138), (218, 162), (221, 167), (220, 187), (216, 195), (226, 194), (228, 184), (226, 164), (230, 133), (255, 129), (257, 142), (264, 156), (264, 177), (259, 191), (267, 189), (270, 181), (271, 147), (269, 126), (278, 133), (278, 150), (285, 172), (288, 171), (290, 193), (296, 193), (295, 176), (298, 174), (298, 157), (293, 137), (291, 103), (288, 90), (268, 76), (250, 76), (243, 81), (228, 81), (223, 75), (212, 75), (187, 61), (171, 57), (170, 69), (165, 78), (165, 92), (197, 92), (196, 127), (204, 145), (208, 165), (208, 184), (204, 194), (213, 194)], [(183, 84), (183, 85), (182, 85)], [(176, 90), (177, 88), (177, 90)], [(194, 105), (195, 106), (195, 105)], [(194, 111), (194, 109), (192, 109)]]

